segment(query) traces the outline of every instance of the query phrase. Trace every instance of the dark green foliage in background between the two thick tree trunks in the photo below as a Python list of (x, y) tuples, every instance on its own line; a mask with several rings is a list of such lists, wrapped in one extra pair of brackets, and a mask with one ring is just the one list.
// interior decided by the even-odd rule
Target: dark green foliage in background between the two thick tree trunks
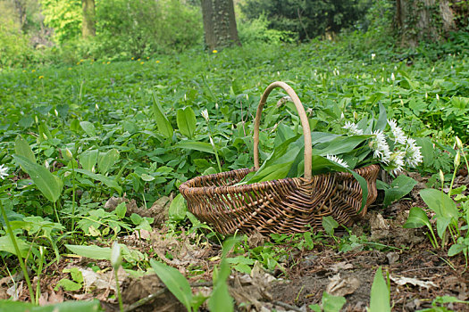
[(300, 40), (327, 33), (338, 33), (363, 16), (367, 3), (362, 1), (268, 1), (247, 0), (241, 11), (254, 20), (265, 14), (270, 29), (296, 33)]

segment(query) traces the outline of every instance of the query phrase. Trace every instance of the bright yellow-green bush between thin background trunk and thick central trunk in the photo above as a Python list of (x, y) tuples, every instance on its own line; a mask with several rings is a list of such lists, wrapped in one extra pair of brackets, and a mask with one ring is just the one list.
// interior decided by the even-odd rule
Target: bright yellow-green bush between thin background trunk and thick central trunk
[(102, 1), (96, 4), (96, 21), (89, 53), (97, 58), (180, 52), (202, 38), (200, 12), (179, 0)]

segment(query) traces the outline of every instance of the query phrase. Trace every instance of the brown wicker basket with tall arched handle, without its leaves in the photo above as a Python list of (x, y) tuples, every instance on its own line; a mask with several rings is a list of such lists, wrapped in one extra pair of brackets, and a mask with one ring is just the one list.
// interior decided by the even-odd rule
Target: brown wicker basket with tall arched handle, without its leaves
[[(249, 172), (259, 168), (261, 113), (275, 87), (283, 88), (297, 108), (305, 137), (305, 177), (236, 185)], [(295, 91), (278, 81), (265, 89), (255, 115), (254, 168), (195, 177), (180, 185), (180, 193), (188, 201), (190, 212), (222, 234), (234, 234), (237, 230), (241, 233), (301, 233), (310, 227), (321, 229), (325, 216), (350, 226), (353, 218), (364, 216), (367, 207), (376, 199), (377, 165), (356, 169), (368, 185), (363, 209), (361, 187), (351, 174), (339, 172), (312, 177), (311, 168), (311, 131), (305, 109)]]

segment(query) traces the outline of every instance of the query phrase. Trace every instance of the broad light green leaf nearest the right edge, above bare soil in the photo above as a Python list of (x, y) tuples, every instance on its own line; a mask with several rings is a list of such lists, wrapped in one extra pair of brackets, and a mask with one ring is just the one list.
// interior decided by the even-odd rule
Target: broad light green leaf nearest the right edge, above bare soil
[(435, 211), (437, 218), (459, 218), (456, 202), (453, 201), (446, 193), (439, 190), (427, 188), (420, 191), (420, 196), (427, 204), (428, 208)]

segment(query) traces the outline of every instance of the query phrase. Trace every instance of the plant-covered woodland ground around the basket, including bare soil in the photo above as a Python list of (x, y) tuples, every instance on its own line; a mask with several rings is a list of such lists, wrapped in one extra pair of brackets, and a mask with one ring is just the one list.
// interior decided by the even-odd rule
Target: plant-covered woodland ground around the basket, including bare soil
[[(354, 36), (2, 72), (0, 298), (96, 299), (88, 309), (106, 310), (466, 309), (467, 51), (401, 62)], [(422, 164), (389, 168), (352, 228), (324, 218), (321, 233), (226, 240), (188, 212), (178, 186), (253, 166), (255, 109), (275, 80), (296, 90), (315, 132), (366, 130), (385, 111)], [(279, 134), (301, 133), (291, 103), (275, 102), (261, 160)]]

